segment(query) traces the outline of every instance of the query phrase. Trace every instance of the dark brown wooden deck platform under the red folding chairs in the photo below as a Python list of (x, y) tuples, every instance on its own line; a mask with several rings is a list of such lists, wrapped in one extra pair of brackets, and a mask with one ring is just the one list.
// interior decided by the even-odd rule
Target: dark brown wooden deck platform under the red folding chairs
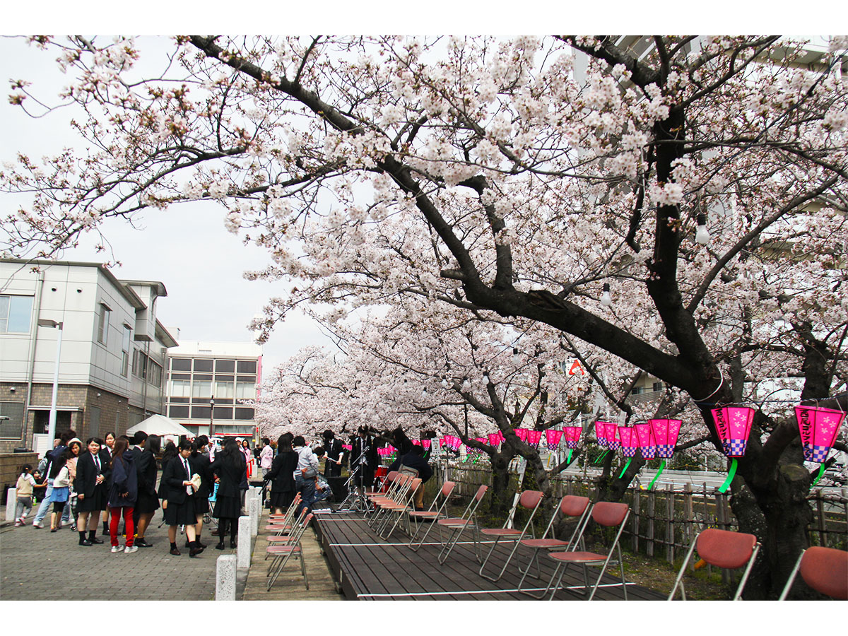
[[(444, 565), (438, 564), (438, 532), (433, 528), (427, 543), (417, 552), (407, 546), (409, 537), (396, 530), (390, 538), (382, 539), (368, 526), (360, 513), (324, 513), (315, 510), (315, 532), (323, 548), (333, 577), (340, 584), (348, 600), (533, 600), (517, 591), (521, 573), (518, 572), (519, 555), (513, 557), (504, 576), (493, 583), (481, 577), (474, 556), (471, 533), (451, 552)], [(446, 533), (447, 534), (447, 533)], [(483, 555), (491, 543), (483, 544)], [(512, 544), (499, 545), (492, 555), (486, 571), (503, 566)], [(522, 563), (527, 561), (527, 551), (521, 552)], [(542, 580), (527, 578), (528, 584), (541, 585), (536, 594), (550, 580), (553, 561), (543, 561)], [(550, 561), (550, 565), (544, 561)], [(596, 568), (589, 568), (591, 575)], [(614, 572), (618, 572), (617, 568)], [(597, 574), (595, 574), (597, 576)], [(605, 574), (594, 600), (623, 600), (620, 582)], [(563, 579), (566, 589), (557, 592), (557, 600), (584, 600), (583, 569), (572, 566)], [(572, 588), (572, 589), (569, 589)], [(628, 600), (665, 600), (665, 595), (654, 590), (628, 583)]]

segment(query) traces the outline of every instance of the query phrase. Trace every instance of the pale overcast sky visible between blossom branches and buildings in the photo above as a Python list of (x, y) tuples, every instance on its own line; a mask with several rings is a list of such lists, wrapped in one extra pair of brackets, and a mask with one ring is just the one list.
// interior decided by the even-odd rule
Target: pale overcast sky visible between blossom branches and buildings
[[(3, 81), (10, 77), (32, 81), (39, 95), (51, 94), (40, 86), (53, 86), (53, 95), (67, 79), (55, 69), (53, 52), (39, 51), (18, 39), (0, 38)], [(8, 61), (14, 60), (14, 68)], [(3, 85), (7, 89), (8, 84)], [(20, 108), (0, 101), (0, 161), (14, 159), (18, 151), (32, 159), (53, 153), (77, 141), (70, 131), (70, 109), (40, 119), (32, 119)], [(8, 195), (3, 212), (16, 203)], [(0, 199), (3, 200), (3, 199)], [(263, 269), (270, 263), (268, 253), (255, 245), (245, 246), (224, 228), (220, 206), (209, 202), (173, 205), (150, 210), (134, 229), (121, 220), (103, 226), (114, 259), (121, 262), (112, 272), (118, 278), (159, 281), (168, 290), (157, 304), (159, 321), (183, 340), (226, 340), (250, 342), (254, 336), (248, 323), (261, 313), (268, 298), (280, 294), (284, 283), (246, 281), (243, 272)], [(63, 259), (103, 262), (111, 255), (98, 254), (95, 234), (85, 237), (78, 248), (65, 251)], [(287, 317), (263, 347), (267, 371), (293, 355), (299, 348), (315, 344), (332, 348), (318, 326), (304, 315)]]

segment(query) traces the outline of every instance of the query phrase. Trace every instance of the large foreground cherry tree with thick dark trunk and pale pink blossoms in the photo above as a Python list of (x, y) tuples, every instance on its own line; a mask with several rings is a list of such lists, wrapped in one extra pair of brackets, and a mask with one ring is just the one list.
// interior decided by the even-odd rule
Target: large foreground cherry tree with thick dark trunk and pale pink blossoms
[[(32, 42), (87, 145), (4, 165), (31, 198), (8, 253), (210, 199), (271, 254), (260, 332), (414, 295), (659, 378), (716, 448), (711, 407), (753, 402), (732, 505), (764, 544), (748, 596), (781, 588), (811, 476), (758, 391), (848, 408), (844, 39), (186, 36), (149, 75), (131, 39)], [(35, 91), (10, 99), (42, 114)]]

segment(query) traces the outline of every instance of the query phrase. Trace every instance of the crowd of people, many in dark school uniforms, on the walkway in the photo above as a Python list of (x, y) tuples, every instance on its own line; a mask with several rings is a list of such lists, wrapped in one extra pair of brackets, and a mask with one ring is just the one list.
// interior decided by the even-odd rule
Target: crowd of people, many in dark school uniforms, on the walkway
[[(409, 466), (424, 480), (432, 475), (420, 446), (412, 444), (398, 428), (391, 434), (398, 449), (397, 466)], [(27, 516), (40, 499), (32, 527), (43, 528), (50, 506), (50, 531), (70, 525), (79, 533), (79, 545), (103, 544), (98, 538), (98, 521), (103, 536), (109, 537), (112, 552), (131, 554), (153, 544), (145, 533), (156, 510), (163, 510), (168, 526), (170, 554), (181, 555), (176, 544), (179, 528), (185, 528), (188, 555), (193, 557), (208, 546), (202, 540), (204, 516), (218, 520), (213, 535), (218, 536), (217, 550), (237, 546), (238, 517), (243, 515), (244, 495), (252, 462), (258, 463), (262, 479), (270, 486), (269, 503), (281, 513), (300, 494), (298, 514), (311, 510), (318, 502), (334, 497), (344, 499), (347, 489), (342, 468), (348, 466), (349, 483), (360, 490), (374, 483), (379, 466), (377, 443), (367, 427), (360, 427), (350, 440), (346, 453), (332, 430), (322, 433), (321, 444), (314, 448), (302, 435), (283, 433), (276, 440), (276, 452), (269, 438), (251, 449), (248, 440), (226, 438), (218, 447), (205, 435), (180, 438), (175, 444), (158, 435), (136, 432), (131, 438), (88, 438), (85, 444), (74, 431), (62, 433), (54, 441), (36, 470), (25, 464), (18, 478), (15, 525), (24, 526)], [(161, 456), (159, 456), (161, 453)], [(321, 473), (321, 460), (324, 471)], [(159, 479), (159, 471), (161, 478)], [(42, 494), (41, 497), (39, 495)], [(421, 505), (416, 495), (416, 507)], [(212, 505), (210, 505), (210, 503)], [(119, 526), (123, 521), (123, 529)], [(124, 538), (124, 544), (120, 544)]]

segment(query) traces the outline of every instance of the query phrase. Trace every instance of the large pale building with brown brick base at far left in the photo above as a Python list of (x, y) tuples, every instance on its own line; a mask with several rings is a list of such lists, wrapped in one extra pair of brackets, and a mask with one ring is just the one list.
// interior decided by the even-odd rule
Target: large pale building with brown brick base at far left
[(165, 410), (176, 340), (156, 320), (161, 282), (120, 281), (98, 263), (0, 259), (0, 452), (47, 448), (61, 325), (57, 432), (125, 432)]

